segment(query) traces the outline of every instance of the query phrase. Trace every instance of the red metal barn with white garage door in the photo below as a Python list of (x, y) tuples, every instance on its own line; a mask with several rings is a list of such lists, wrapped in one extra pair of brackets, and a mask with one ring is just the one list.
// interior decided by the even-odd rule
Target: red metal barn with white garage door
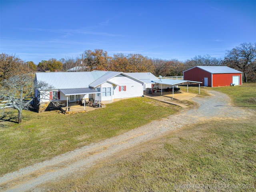
[(242, 72), (227, 66), (196, 66), (183, 72), (184, 80), (203, 82), (201, 86), (242, 85)]

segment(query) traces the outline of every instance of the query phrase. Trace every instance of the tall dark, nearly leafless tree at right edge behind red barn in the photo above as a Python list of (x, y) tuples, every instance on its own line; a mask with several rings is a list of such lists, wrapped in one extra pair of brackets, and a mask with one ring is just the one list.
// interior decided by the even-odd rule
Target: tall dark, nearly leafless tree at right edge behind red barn
[(223, 64), (243, 72), (244, 82), (256, 76), (256, 43), (242, 43), (229, 50)]

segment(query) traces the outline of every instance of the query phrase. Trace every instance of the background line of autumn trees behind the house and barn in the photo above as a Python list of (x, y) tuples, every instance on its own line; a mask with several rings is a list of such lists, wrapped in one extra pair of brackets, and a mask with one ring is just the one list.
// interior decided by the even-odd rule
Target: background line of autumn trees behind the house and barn
[(34, 62), (24, 62), (15, 55), (2, 53), (0, 59), (0, 80), (8, 78), (10, 74), (35, 70), (68, 71), (74, 67), (76, 71), (151, 72), (155, 76), (182, 76), (183, 71), (194, 66), (229, 66), (243, 72), (244, 82), (256, 82), (256, 43), (242, 43), (228, 50), (224, 59), (208, 54), (198, 55), (186, 61), (148, 58), (141, 54), (117, 53), (109, 56), (108, 52), (102, 49), (85, 50), (80, 58), (42, 60), (37, 66)]

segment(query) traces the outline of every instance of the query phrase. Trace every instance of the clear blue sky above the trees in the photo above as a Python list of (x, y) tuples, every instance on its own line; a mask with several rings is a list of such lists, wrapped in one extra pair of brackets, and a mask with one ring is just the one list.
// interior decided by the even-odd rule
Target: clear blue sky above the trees
[(85, 50), (185, 61), (256, 42), (256, 0), (0, 0), (0, 52), (24, 61)]

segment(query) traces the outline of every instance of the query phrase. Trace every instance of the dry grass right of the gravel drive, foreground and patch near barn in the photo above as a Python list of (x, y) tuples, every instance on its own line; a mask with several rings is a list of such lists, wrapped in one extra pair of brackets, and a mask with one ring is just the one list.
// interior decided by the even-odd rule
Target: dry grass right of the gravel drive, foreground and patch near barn
[[(256, 84), (210, 88), (255, 107)], [(209, 88), (206, 88), (209, 89)], [(242, 98), (239, 95), (244, 95)], [(209, 120), (116, 154), (48, 191), (256, 191), (256, 119)], [(203, 185), (207, 185), (204, 188)]]

